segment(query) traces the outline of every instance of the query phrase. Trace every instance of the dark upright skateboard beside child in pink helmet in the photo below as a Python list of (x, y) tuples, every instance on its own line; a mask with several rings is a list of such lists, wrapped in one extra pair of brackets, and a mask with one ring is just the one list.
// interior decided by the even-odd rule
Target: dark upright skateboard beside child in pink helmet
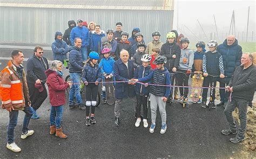
[[(106, 88), (106, 100), (107, 104), (113, 105), (116, 100), (114, 99), (114, 86), (113, 86), (113, 78), (106, 78), (105, 77), (105, 88)], [(108, 83), (110, 82), (110, 83)]]

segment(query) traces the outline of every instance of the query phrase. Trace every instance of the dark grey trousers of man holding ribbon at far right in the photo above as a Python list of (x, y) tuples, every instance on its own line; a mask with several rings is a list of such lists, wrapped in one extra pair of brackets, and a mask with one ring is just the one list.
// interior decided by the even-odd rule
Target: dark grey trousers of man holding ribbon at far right
[(235, 125), (234, 117), (232, 112), (235, 110), (235, 107), (238, 107), (239, 110), (239, 119), (240, 119), (240, 128), (238, 129), (238, 136), (244, 137), (245, 130), (246, 130), (246, 122), (247, 122), (247, 107), (248, 107), (248, 100), (245, 99), (237, 99), (232, 98), (230, 102), (228, 100), (227, 105), (225, 107), (224, 113), (227, 118), (228, 125), (230, 126), (231, 131), (237, 130), (237, 125)]

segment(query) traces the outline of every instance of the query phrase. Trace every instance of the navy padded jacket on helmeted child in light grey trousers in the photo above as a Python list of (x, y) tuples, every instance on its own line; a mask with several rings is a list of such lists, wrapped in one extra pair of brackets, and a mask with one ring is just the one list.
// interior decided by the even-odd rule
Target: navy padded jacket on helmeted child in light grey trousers
[[(139, 78), (139, 82), (144, 82), (148, 80), (152, 80), (152, 84), (160, 84), (160, 85), (171, 85), (171, 76), (166, 67), (164, 70), (162, 69), (154, 69), (149, 75), (143, 78)], [(150, 93), (155, 96), (166, 97), (168, 98), (170, 95), (171, 87), (170, 86), (158, 86), (151, 85)]]

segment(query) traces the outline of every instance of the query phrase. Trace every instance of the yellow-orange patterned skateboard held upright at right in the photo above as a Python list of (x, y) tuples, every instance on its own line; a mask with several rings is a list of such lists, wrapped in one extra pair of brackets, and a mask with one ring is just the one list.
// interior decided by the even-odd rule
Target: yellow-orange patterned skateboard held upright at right
[[(192, 87), (201, 87), (203, 86), (204, 82), (204, 77), (203, 77), (203, 72), (201, 71), (196, 71), (193, 73), (194, 75), (192, 76)], [(190, 97), (192, 98), (193, 102), (198, 102), (199, 99), (201, 99), (201, 88), (192, 88), (191, 89), (191, 95)]]

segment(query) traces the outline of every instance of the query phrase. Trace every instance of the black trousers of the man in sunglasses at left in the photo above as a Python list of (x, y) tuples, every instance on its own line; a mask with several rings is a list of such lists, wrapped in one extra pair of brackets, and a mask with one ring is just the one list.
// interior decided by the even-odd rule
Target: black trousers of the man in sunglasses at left
[(47, 98), (47, 91), (45, 85), (43, 83), (42, 85), (44, 90), (42, 92), (39, 92), (39, 90), (35, 88), (35, 83), (28, 83), (30, 102), (31, 106), (35, 111), (39, 109), (44, 100)]

